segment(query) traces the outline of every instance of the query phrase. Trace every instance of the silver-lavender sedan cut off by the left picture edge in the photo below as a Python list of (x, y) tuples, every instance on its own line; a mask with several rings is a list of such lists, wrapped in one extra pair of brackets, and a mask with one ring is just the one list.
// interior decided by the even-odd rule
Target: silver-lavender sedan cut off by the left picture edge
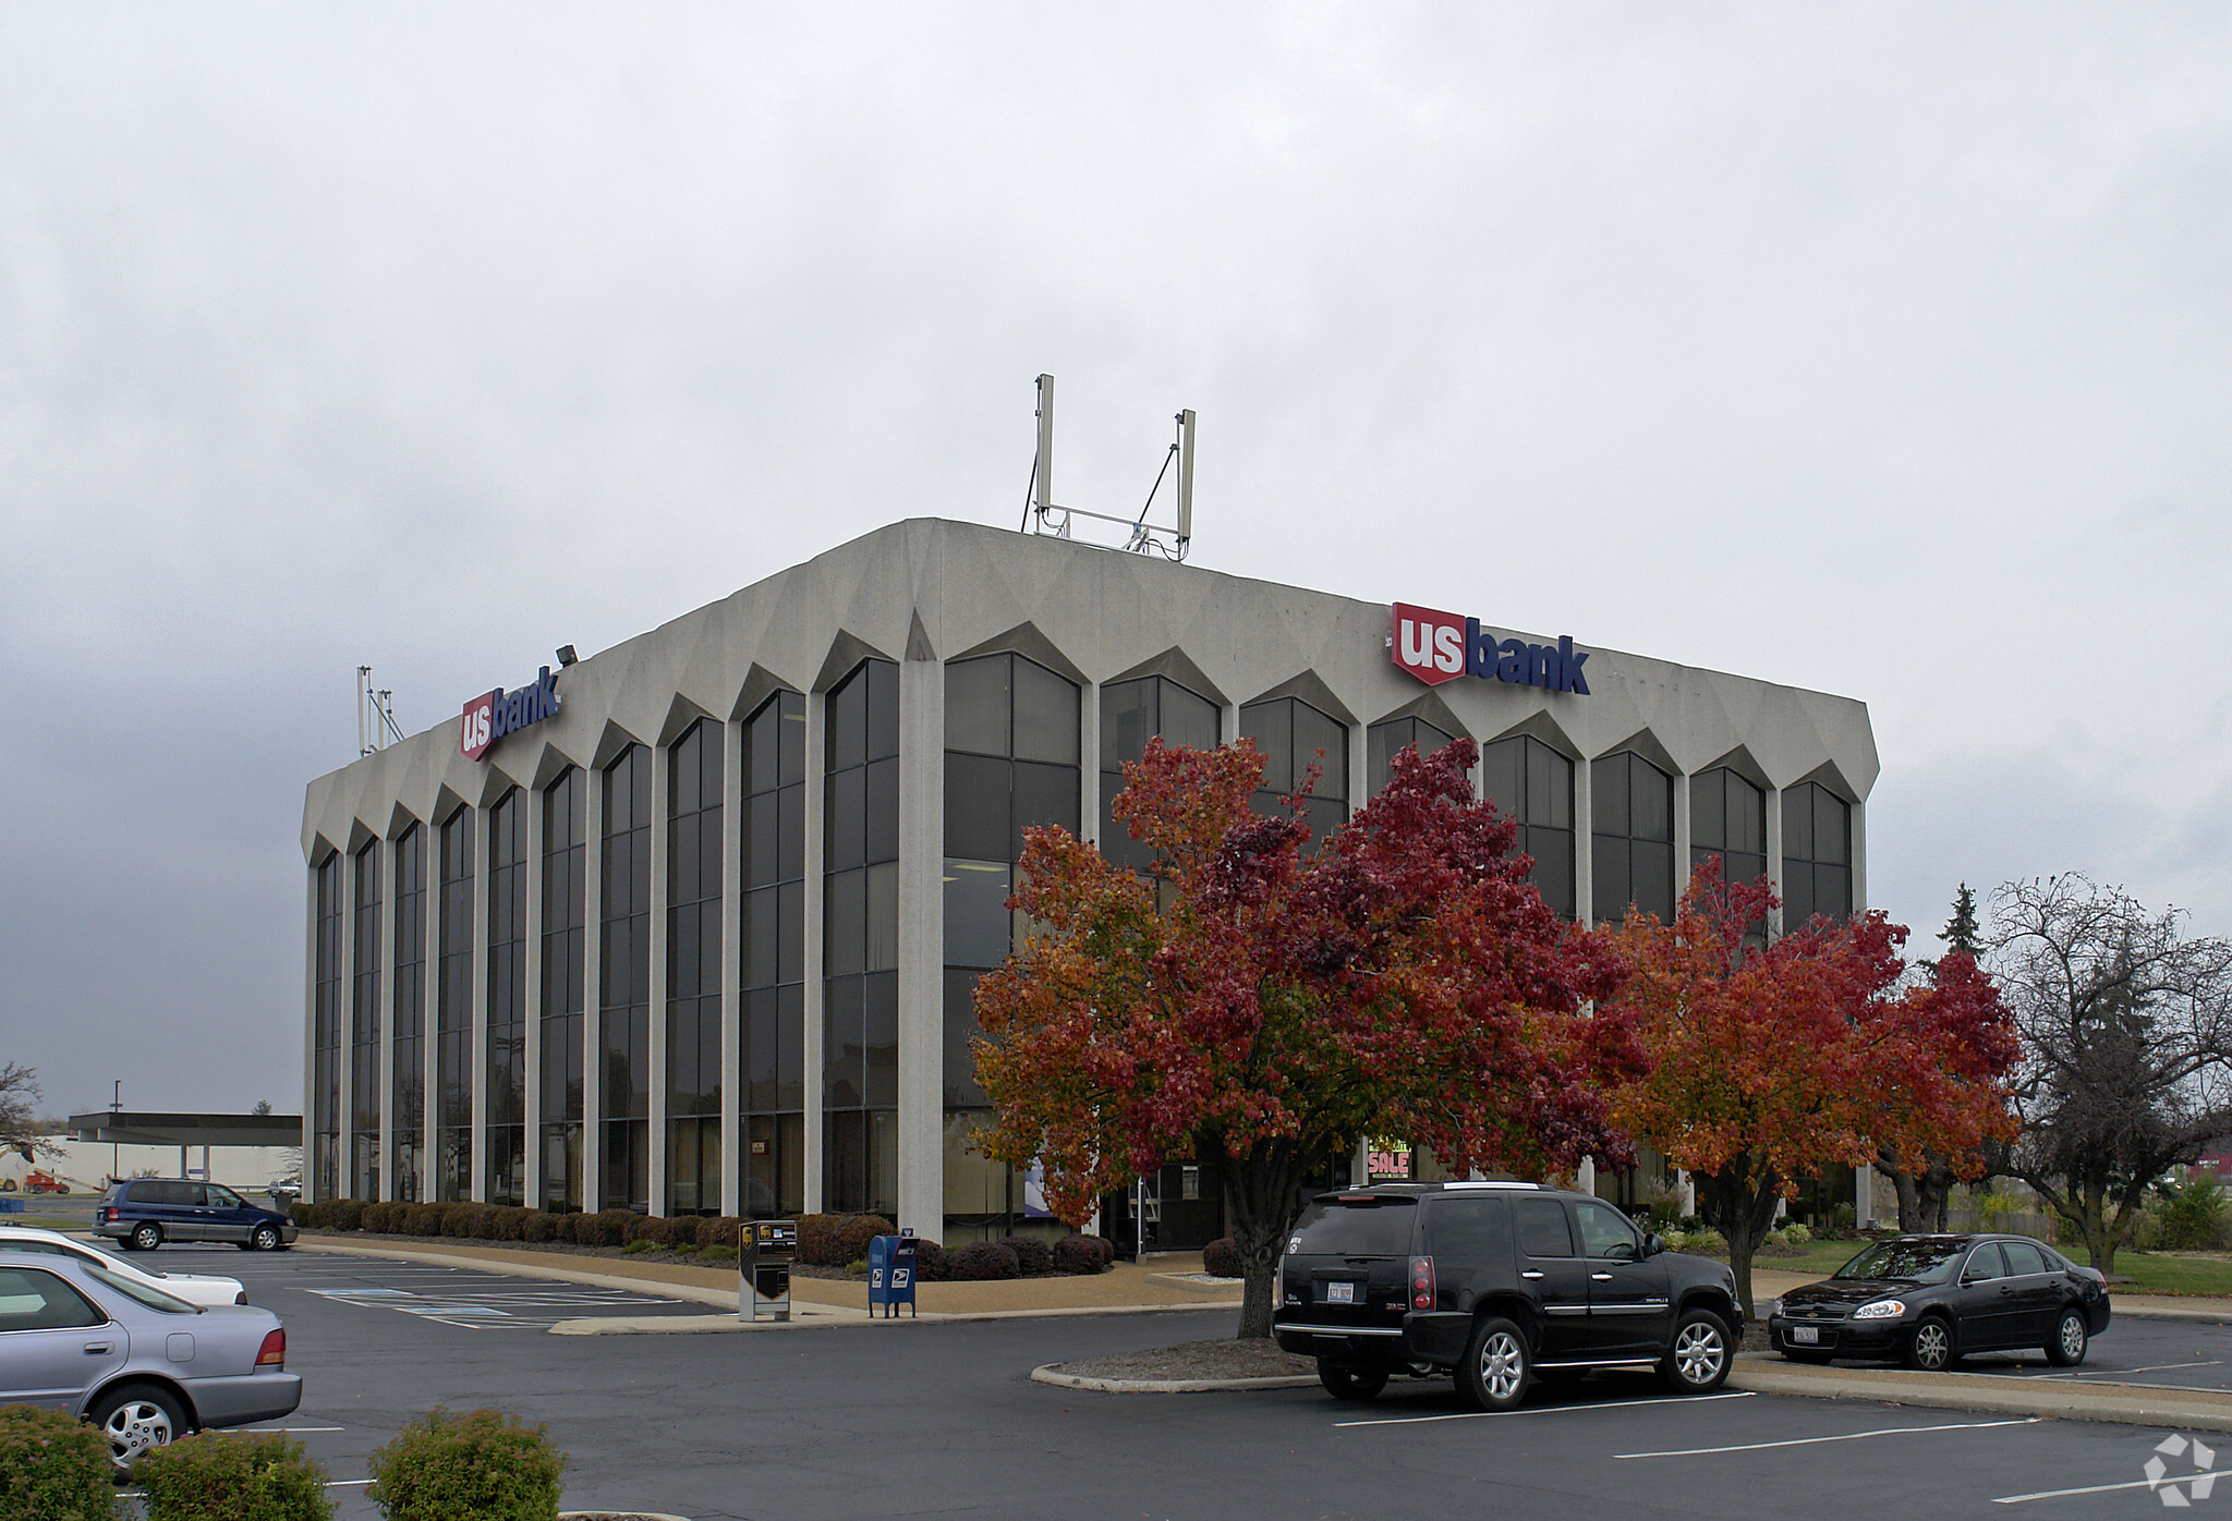
[(268, 1309), (199, 1309), (71, 1256), (0, 1251), (0, 1403), (92, 1421), (129, 1470), (174, 1436), (295, 1414), (301, 1376)]

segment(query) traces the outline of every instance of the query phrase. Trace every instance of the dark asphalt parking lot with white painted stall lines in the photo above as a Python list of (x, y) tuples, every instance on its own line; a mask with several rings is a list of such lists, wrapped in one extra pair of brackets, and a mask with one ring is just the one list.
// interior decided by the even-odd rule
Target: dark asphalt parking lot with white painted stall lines
[[(1080, 1394), (1027, 1374), (1228, 1334), (1230, 1311), (574, 1338), (542, 1329), (705, 1307), (319, 1251), (165, 1247), (152, 1262), (234, 1273), (286, 1316), (306, 1394), (281, 1425), (346, 1485), (341, 1517), (375, 1514), (366, 1456), (431, 1405), (547, 1423), (571, 1454), (567, 1508), (694, 1521), (1049, 1508), (1786, 1519), (1828, 1503), (1902, 1519), (2138, 1517), (2163, 1510), (2143, 1470), (2172, 1436), (1741, 1392), (1685, 1401), (1643, 1376), (1545, 1389), (1509, 1416), (1466, 1414), (1446, 1383), (1408, 1380), (1370, 1405), (1317, 1389)], [(2120, 1320), (2085, 1376), (2219, 1387), (2228, 1367), (2232, 1327)], [(2170, 1472), (2192, 1461), (2187, 1450)]]

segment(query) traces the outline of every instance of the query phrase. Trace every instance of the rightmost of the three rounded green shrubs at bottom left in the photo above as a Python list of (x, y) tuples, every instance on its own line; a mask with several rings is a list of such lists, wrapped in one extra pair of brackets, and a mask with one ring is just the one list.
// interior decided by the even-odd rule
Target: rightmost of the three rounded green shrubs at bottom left
[(565, 1454), (540, 1425), (431, 1409), (373, 1452), (371, 1472), (388, 1521), (556, 1521)]

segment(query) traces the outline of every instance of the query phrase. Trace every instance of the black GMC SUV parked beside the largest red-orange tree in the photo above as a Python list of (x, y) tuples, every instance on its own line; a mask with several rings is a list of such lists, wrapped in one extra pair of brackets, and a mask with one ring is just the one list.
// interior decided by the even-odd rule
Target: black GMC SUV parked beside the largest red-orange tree
[(1656, 1367), (1683, 1394), (1728, 1378), (1736, 1278), (1667, 1251), (1612, 1204), (1511, 1182), (1321, 1193), (1288, 1231), (1272, 1334), (1337, 1398), (1455, 1374), (1475, 1409), (1596, 1367)]

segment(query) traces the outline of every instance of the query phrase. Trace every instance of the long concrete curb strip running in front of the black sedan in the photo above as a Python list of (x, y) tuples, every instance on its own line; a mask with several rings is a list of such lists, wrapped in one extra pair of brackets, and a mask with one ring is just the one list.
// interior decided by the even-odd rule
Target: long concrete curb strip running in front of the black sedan
[(1859, 1367), (1797, 1367), (1766, 1354), (1736, 1358), (1730, 1389), (1795, 1394), (1815, 1401), (1870, 1401), (1928, 1409), (1982, 1409), (2053, 1421), (2167, 1425), (2185, 1432), (2232, 1432), (2232, 1394), (2129, 1383), (2007, 1378), (1995, 1374), (1911, 1374)]

